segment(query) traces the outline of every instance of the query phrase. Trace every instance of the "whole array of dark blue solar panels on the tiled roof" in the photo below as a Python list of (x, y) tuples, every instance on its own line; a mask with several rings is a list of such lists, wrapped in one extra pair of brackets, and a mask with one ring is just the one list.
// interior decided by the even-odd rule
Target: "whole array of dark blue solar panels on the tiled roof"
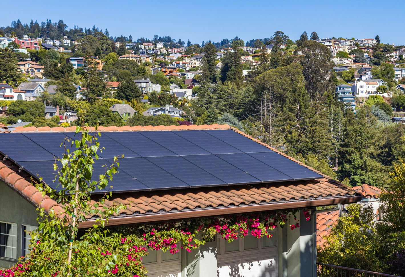
[[(75, 133), (1, 133), (0, 152), (56, 188), (53, 163)], [(322, 175), (232, 130), (104, 132), (94, 180), (119, 157), (114, 192), (256, 184)], [(74, 150), (66, 143), (70, 151)], [(124, 155), (124, 158), (120, 158)]]

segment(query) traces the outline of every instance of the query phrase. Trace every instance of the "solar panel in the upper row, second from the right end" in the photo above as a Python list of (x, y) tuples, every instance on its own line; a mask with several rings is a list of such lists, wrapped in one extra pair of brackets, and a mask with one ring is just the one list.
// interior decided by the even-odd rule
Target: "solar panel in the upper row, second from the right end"
[(242, 153), (241, 150), (226, 144), (222, 140), (205, 133), (204, 131), (173, 131), (173, 133), (200, 146), (212, 154)]

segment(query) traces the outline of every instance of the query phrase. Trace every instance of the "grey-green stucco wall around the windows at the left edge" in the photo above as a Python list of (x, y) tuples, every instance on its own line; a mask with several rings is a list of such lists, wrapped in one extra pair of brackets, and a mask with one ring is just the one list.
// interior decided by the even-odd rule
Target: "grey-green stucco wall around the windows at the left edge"
[[(22, 225), (38, 226), (36, 207), (0, 181), (0, 221), (17, 224), (17, 258), (21, 256)], [(17, 260), (0, 258), (0, 267), (10, 267)]]

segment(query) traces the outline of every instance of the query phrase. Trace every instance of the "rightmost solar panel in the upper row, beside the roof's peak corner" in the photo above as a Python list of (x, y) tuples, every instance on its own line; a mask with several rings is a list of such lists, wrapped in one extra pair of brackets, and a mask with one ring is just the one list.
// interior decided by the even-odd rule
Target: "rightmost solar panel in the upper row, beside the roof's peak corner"
[(232, 130), (206, 130), (204, 132), (216, 137), (219, 140), (222, 140), (234, 148), (241, 150), (241, 152), (273, 152), (273, 150), (267, 148), (266, 146), (258, 144), (248, 137), (240, 135)]

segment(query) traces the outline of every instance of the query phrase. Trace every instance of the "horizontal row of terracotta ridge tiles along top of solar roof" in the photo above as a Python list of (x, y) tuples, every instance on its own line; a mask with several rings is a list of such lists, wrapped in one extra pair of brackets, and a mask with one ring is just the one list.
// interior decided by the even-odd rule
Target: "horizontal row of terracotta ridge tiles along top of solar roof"
[[(75, 132), (78, 126), (70, 126), (70, 127), (53, 127), (50, 128), (49, 126), (45, 127), (15, 127), (13, 133), (21, 133), (21, 132)], [(115, 125), (109, 127), (99, 126), (97, 131), (99, 132), (107, 132), (107, 131), (182, 131), (182, 130), (229, 130), (231, 127), (228, 124), (218, 125), (217, 123), (211, 125), (168, 125), (168, 126), (121, 126), (117, 127)], [(95, 127), (89, 127), (90, 131), (96, 131)]]

